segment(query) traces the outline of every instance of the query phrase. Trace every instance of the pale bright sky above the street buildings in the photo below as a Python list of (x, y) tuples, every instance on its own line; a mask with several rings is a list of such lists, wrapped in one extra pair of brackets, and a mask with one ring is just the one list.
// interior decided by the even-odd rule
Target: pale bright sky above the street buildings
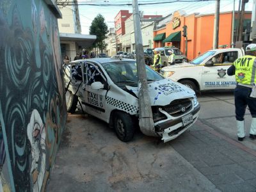
[[(129, 4), (132, 1), (127, 0), (77, 0), (79, 4)], [(171, 2), (175, 0), (138, 0), (138, 3), (159, 3), (159, 2)], [(179, 0), (177, 0), (179, 1)], [(139, 10), (144, 13), (144, 15), (163, 15), (166, 16), (177, 10), (185, 11), (186, 14), (190, 13), (214, 13), (215, 12), (215, 1), (206, 2), (193, 2), (189, 0), (184, 2), (175, 3), (164, 3), (164, 4), (147, 4), (139, 6)], [(195, 0), (198, 1), (198, 0)], [(235, 0), (236, 10), (238, 10), (239, 0)], [(249, 0), (246, 3), (245, 10), (252, 11), (253, 0)], [(220, 12), (232, 11), (234, 6), (234, 0), (220, 0)], [(82, 34), (89, 34), (89, 28), (92, 20), (101, 14), (106, 20), (109, 28), (114, 27), (114, 20), (116, 14), (120, 10), (129, 10), (132, 13), (132, 6), (92, 6), (92, 5), (79, 5), (79, 16), (81, 22)]]

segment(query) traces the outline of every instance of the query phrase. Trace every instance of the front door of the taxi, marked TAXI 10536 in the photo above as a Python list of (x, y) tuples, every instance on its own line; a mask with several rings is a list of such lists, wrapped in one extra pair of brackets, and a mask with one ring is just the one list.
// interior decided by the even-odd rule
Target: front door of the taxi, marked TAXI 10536
[[(100, 68), (94, 63), (84, 63), (83, 66), (83, 97), (82, 104), (85, 106), (86, 113), (106, 120), (106, 92), (108, 83)], [(93, 89), (92, 84), (100, 82), (104, 88)]]

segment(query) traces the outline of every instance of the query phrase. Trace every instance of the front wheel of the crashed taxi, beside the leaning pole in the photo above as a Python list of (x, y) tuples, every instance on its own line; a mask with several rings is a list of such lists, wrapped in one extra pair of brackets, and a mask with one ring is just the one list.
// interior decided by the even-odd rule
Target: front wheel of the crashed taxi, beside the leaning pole
[(114, 128), (118, 139), (124, 142), (131, 141), (135, 132), (131, 116), (121, 111), (116, 112), (114, 116)]

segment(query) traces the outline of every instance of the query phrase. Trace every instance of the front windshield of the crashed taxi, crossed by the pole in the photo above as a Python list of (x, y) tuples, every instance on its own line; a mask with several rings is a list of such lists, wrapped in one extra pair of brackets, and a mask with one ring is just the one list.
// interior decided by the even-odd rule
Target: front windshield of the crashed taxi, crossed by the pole
[[(109, 63), (102, 63), (102, 67), (108, 73), (108, 76), (115, 84), (127, 84), (129, 86), (137, 86), (138, 74), (136, 61), (113, 61)], [(159, 81), (164, 79), (160, 74), (146, 66), (147, 80)]]

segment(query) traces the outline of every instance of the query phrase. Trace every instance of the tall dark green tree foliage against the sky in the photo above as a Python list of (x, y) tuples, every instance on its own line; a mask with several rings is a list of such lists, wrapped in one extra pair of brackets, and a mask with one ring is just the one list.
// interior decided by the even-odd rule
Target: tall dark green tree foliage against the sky
[(105, 22), (105, 19), (102, 15), (98, 14), (92, 21), (90, 26), (90, 35), (96, 35), (97, 39), (93, 43), (93, 47), (99, 47), (100, 50), (104, 49), (105, 42), (107, 38), (108, 26)]

